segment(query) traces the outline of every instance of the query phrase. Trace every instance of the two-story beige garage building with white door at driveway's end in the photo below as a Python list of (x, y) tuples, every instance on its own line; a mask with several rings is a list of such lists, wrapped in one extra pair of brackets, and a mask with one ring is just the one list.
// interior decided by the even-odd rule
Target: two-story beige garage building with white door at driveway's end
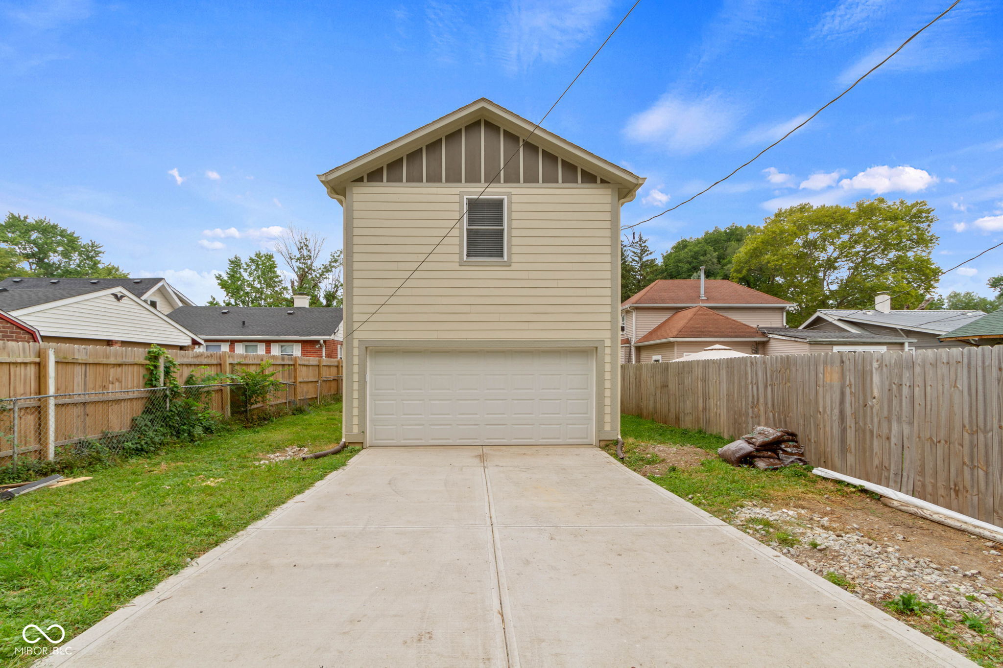
[(319, 178), (344, 206), (349, 444), (618, 438), (620, 206), (643, 178), (486, 99)]

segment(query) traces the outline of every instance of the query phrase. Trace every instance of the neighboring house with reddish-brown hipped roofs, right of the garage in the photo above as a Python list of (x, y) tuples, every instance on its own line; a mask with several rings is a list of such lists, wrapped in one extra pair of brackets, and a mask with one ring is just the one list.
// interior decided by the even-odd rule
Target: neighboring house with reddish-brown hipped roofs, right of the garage
[(794, 304), (723, 279), (656, 280), (620, 306), (620, 361), (669, 362), (723, 345), (761, 355)]

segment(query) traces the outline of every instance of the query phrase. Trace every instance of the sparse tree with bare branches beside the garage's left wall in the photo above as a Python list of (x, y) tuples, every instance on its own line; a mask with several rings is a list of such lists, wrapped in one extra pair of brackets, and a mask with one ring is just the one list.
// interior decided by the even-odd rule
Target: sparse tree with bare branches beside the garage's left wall
[(341, 305), (341, 250), (324, 259), (323, 236), (295, 227), (288, 228), (275, 244), (275, 251), (292, 272), (293, 292), (306, 292), (315, 306)]

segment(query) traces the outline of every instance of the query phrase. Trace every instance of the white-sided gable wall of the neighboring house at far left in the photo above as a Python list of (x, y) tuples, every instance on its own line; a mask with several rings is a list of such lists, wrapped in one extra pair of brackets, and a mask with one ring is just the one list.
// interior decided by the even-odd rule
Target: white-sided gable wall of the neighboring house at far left
[(67, 337), (99, 341), (189, 346), (192, 338), (128, 297), (116, 301), (101, 294), (31, 313), (14, 314), (35, 326), (42, 338)]

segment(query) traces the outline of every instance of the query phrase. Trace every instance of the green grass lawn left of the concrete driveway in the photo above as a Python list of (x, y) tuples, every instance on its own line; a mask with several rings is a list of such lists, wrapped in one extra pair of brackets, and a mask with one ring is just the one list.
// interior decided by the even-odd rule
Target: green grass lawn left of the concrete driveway
[[(0, 504), (0, 665), (24, 665), (26, 624), (72, 638), (148, 591), (356, 452), (256, 465), (289, 446), (341, 440), (341, 404), (311, 407), (195, 445), (78, 472), (93, 480)], [(43, 641), (44, 642), (44, 641)]]

